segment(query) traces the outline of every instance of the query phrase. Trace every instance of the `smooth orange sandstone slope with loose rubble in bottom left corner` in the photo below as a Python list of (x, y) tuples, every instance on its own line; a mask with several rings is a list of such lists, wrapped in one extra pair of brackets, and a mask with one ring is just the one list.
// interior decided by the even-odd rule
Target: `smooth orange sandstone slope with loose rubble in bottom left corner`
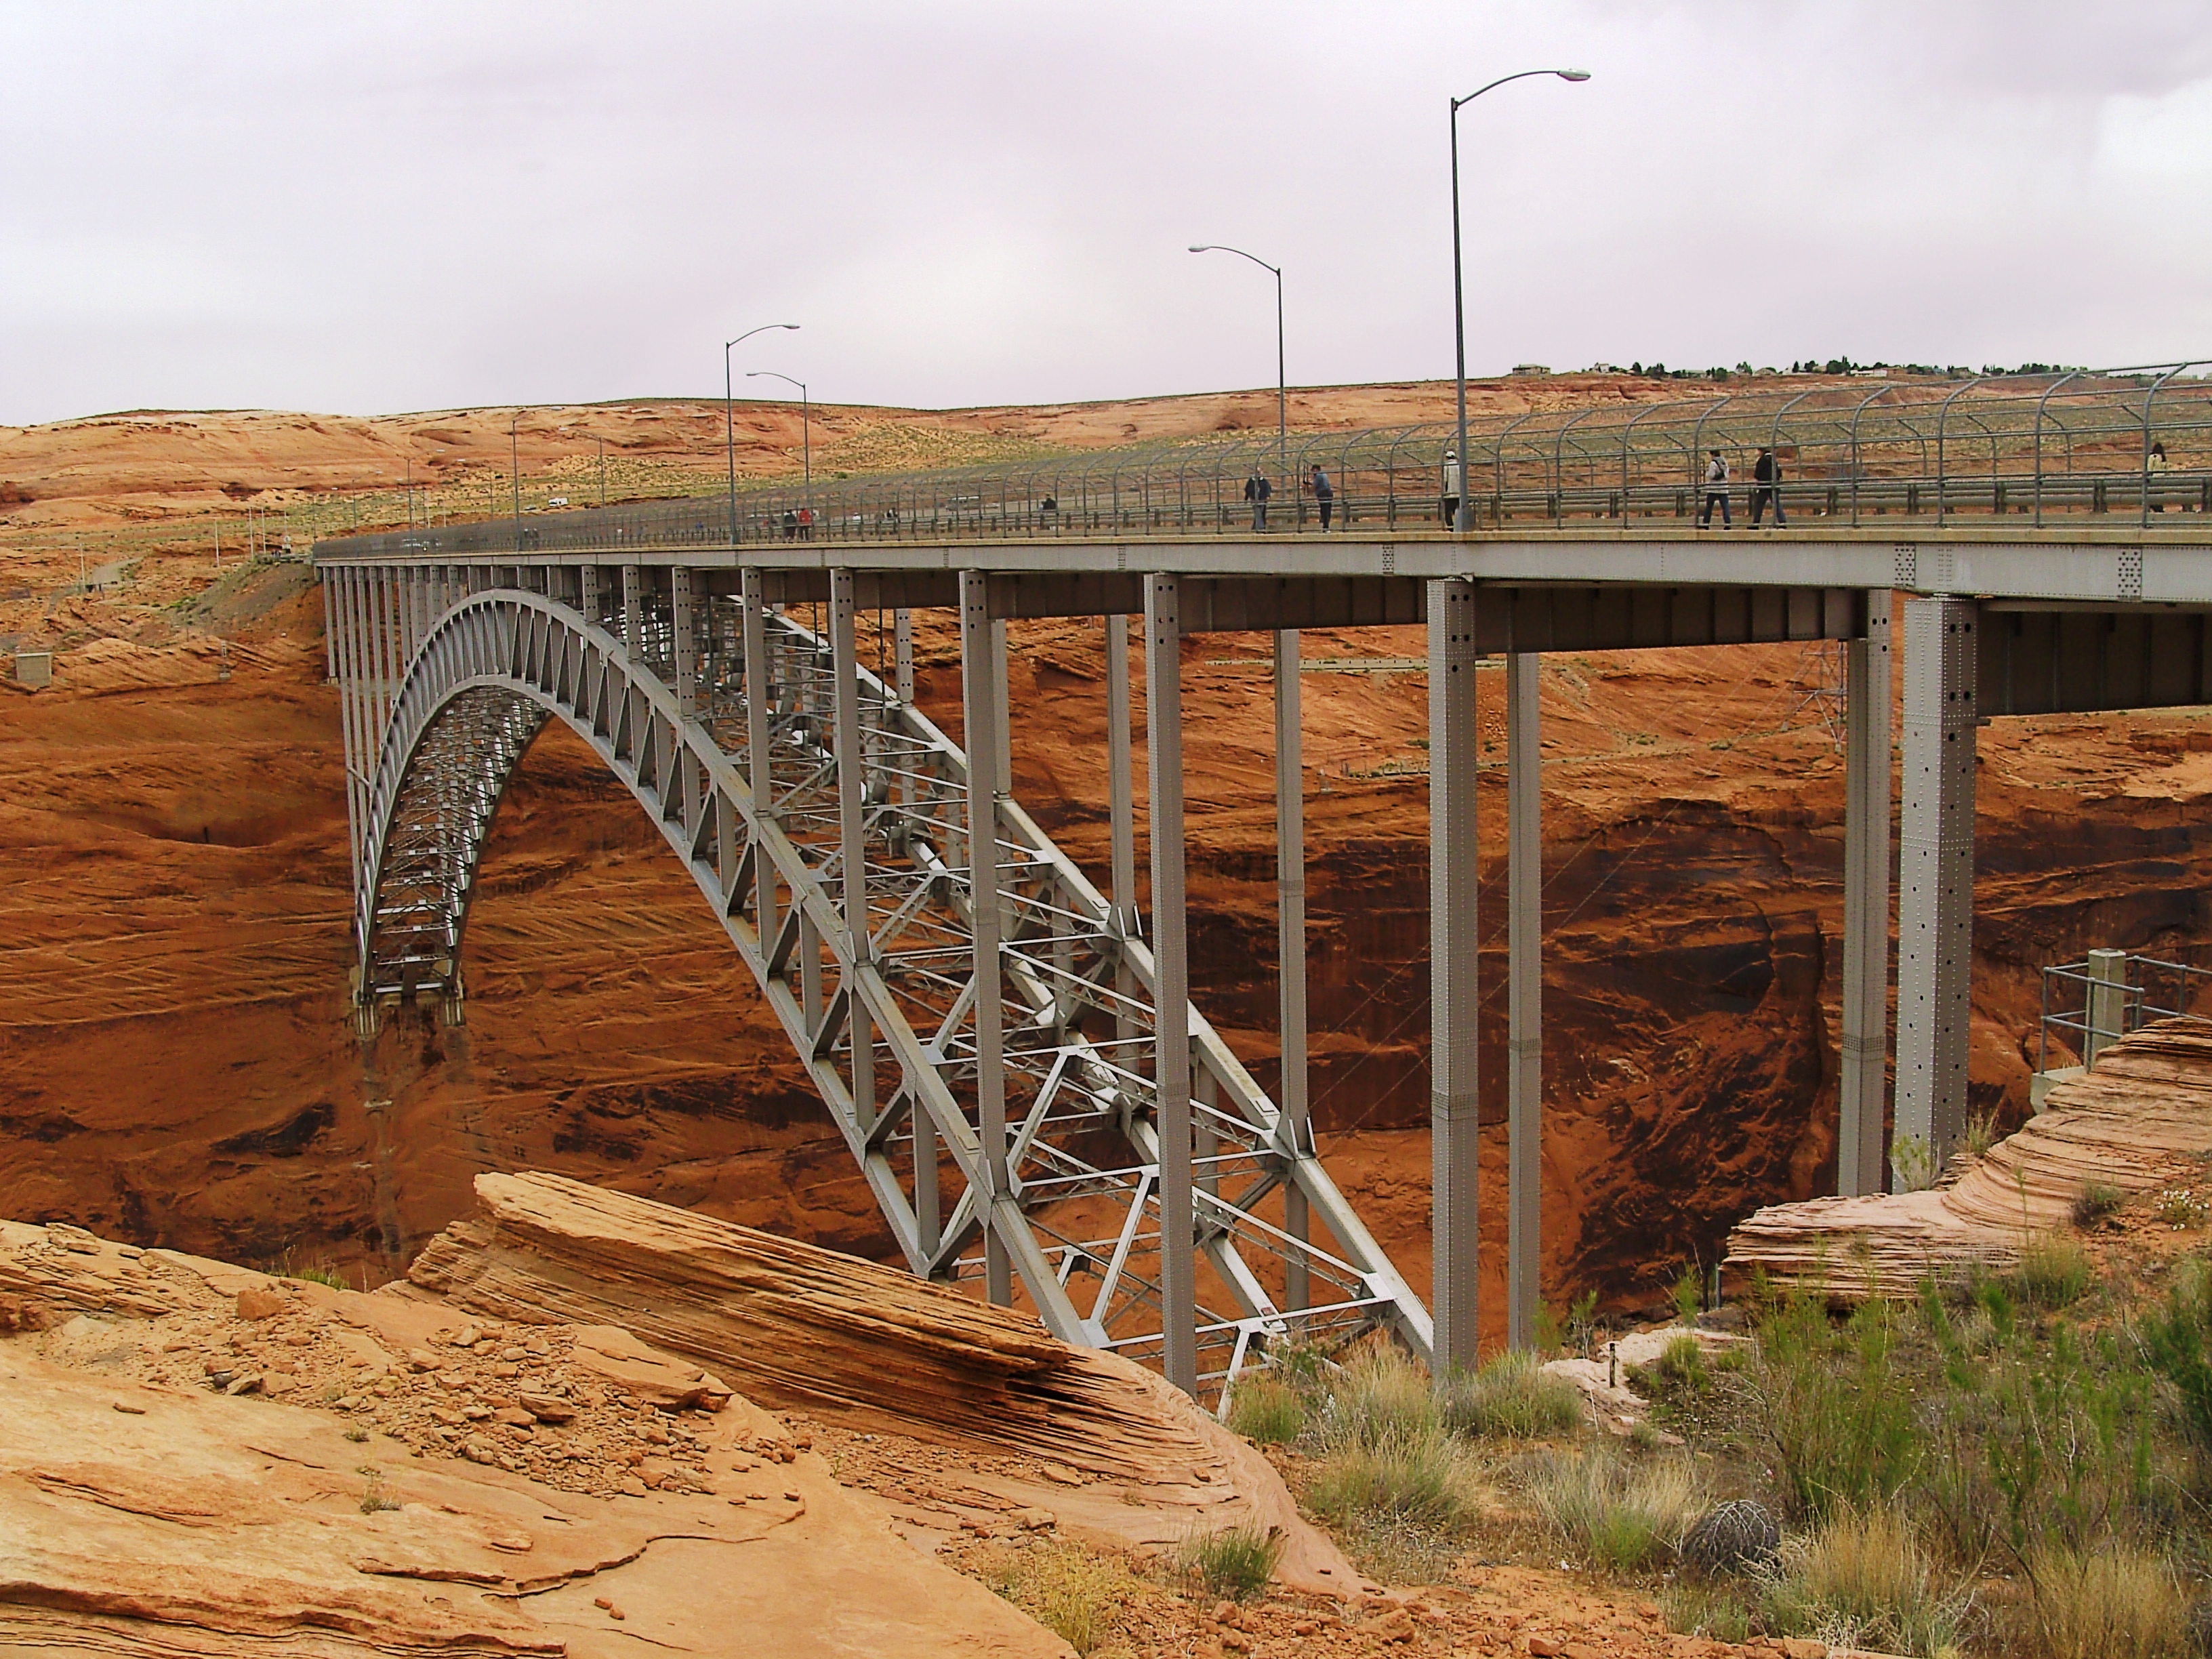
[(0, 1340), (0, 1648), (1066, 1652), (630, 1332), (84, 1243), (0, 1223), (11, 1294), (91, 1305)]

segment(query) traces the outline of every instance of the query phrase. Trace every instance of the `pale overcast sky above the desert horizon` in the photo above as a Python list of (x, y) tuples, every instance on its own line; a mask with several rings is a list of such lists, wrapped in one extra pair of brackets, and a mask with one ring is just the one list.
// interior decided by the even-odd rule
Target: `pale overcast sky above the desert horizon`
[[(2212, 0), (0, 0), (0, 420), (2212, 352)], [(743, 383), (739, 383), (743, 385)], [(754, 389), (774, 383), (757, 380)]]

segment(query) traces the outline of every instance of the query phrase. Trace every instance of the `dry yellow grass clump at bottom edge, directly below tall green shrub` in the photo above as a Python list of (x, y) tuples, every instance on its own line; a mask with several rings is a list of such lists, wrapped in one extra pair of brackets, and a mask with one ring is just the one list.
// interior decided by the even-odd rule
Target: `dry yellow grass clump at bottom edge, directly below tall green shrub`
[(1958, 1644), (1971, 1593), (1938, 1582), (1896, 1509), (1836, 1509), (1783, 1546), (1759, 1606), (1774, 1630), (1829, 1646), (1936, 1655)]

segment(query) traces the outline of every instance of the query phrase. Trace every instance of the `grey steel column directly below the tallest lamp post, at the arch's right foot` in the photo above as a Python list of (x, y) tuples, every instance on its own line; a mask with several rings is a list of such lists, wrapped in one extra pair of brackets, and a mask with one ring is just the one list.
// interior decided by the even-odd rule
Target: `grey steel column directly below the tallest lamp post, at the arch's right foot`
[(1429, 584), (1429, 1157), (1436, 1376), (1475, 1365), (1475, 588)]

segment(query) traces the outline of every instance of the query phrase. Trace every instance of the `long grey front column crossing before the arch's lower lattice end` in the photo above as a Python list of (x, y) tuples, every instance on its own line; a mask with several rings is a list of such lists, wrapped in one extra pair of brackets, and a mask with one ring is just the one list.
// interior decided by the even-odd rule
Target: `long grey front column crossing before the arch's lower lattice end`
[(1159, 1312), (1168, 1380), (1199, 1391), (1190, 1217), (1190, 947), (1183, 933), (1183, 617), (1172, 575), (1144, 580), (1152, 785), (1152, 1018), (1159, 1093)]

